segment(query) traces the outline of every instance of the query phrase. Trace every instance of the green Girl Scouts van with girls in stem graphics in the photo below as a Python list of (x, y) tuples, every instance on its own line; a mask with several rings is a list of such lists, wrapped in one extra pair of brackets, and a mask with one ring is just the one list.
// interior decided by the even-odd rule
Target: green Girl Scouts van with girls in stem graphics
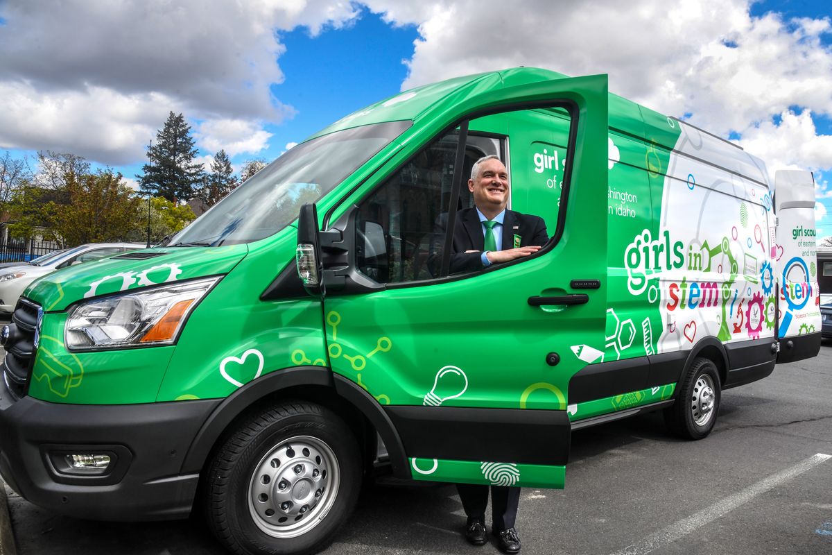
[[(488, 155), (550, 239), (454, 273)], [(308, 553), (374, 464), (562, 488), (572, 429), (663, 409), (704, 438), (722, 389), (820, 349), (812, 177), (769, 181), (607, 76), (403, 92), (166, 245), (31, 285), (2, 329), (0, 474), (78, 518), (201, 508), (235, 553)]]

